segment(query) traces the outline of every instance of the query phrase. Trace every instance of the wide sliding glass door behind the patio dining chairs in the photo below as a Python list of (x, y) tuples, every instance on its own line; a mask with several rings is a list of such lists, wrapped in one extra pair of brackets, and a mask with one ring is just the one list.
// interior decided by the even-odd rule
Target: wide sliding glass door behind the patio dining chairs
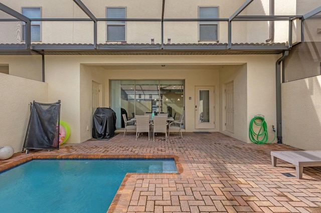
[[(116, 112), (116, 128), (146, 112), (165, 112), (178, 119), (184, 114), (184, 80), (110, 80), (110, 106)], [(121, 118), (121, 119), (119, 119)]]

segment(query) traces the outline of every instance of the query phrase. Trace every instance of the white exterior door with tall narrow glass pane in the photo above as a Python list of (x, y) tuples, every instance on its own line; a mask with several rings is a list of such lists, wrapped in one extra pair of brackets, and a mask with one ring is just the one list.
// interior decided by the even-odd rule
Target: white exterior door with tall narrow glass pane
[(195, 86), (195, 128), (215, 128), (214, 86)]

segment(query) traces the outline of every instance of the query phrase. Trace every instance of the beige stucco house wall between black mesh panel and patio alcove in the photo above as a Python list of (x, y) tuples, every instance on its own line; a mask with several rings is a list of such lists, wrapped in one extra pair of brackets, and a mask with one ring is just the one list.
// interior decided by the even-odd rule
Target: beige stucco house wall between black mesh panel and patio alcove
[(45, 56), (48, 100), (52, 102), (61, 100), (60, 119), (70, 126), (67, 142), (82, 142), (80, 141), (81, 58), (81, 56)]

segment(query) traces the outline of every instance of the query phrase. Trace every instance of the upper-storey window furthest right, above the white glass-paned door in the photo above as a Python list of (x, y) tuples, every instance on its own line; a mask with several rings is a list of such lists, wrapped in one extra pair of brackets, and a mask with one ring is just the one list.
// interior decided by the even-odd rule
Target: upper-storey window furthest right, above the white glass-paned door
[[(199, 7), (199, 18), (218, 18), (218, 7)], [(199, 24), (200, 40), (218, 40), (217, 21), (200, 21)]]

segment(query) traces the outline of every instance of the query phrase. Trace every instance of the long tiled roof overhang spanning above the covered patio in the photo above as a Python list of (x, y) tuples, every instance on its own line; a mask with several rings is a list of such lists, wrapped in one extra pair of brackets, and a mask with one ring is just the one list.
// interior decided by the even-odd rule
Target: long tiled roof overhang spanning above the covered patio
[(122, 55), (122, 54), (279, 54), (287, 50), (285, 43), (212, 44), (0, 44), (4, 55)]

